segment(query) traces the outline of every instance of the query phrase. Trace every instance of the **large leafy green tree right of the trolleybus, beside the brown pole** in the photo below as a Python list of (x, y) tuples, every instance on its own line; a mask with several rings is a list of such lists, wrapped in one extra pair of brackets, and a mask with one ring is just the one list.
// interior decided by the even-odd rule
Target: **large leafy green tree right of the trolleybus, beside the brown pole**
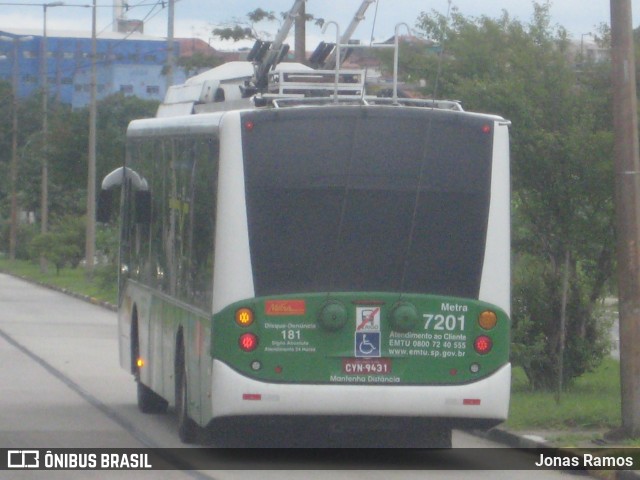
[(444, 54), (423, 60), (425, 93), (437, 89), (513, 122), (513, 359), (533, 386), (551, 388), (563, 311), (563, 382), (607, 351), (596, 305), (613, 271), (612, 134), (603, 113), (610, 111), (606, 65), (578, 71), (567, 32), (550, 24), (549, 3), (534, 7), (529, 23), (454, 9), (450, 19), (424, 13), (418, 27), (434, 42), (444, 39)]

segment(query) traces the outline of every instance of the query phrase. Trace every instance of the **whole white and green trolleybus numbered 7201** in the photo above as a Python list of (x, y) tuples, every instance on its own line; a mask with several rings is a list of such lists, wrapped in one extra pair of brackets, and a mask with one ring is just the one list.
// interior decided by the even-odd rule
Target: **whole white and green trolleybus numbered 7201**
[(265, 98), (133, 121), (103, 182), (122, 186), (120, 363), (140, 410), (174, 405), (185, 442), (260, 417), (419, 424), (450, 446), (505, 420), (509, 122)]

